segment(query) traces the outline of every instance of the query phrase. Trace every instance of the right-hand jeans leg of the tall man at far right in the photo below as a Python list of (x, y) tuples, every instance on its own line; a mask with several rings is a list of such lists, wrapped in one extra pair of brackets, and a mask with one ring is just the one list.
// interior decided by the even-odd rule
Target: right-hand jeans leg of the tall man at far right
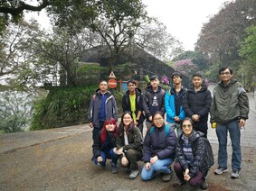
[(241, 132), (238, 122), (235, 120), (231, 123), (228, 123), (228, 129), (232, 141), (232, 171), (240, 171), (242, 163), (242, 153), (240, 144)]

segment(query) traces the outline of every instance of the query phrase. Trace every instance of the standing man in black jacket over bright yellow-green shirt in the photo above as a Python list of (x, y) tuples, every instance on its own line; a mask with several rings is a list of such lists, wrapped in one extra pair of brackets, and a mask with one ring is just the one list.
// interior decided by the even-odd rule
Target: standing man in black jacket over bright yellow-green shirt
[(128, 80), (128, 91), (122, 98), (123, 112), (130, 112), (135, 125), (143, 135), (143, 122), (145, 120), (142, 108), (141, 90), (137, 88), (137, 83), (134, 79)]

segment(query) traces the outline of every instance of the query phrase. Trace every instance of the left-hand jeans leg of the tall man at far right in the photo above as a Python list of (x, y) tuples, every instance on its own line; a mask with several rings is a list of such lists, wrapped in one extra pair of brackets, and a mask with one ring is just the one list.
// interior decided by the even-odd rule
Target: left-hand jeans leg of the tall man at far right
[(219, 168), (227, 168), (227, 125), (217, 124), (216, 134), (219, 141), (218, 164)]

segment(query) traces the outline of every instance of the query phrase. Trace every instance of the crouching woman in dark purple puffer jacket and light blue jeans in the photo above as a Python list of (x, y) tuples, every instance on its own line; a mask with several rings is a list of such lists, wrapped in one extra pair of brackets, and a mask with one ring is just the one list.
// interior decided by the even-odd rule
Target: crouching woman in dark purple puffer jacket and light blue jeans
[(170, 181), (173, 171), (170, 165), (175, 159), (176, 135), (172, 128), (165, 124), (161, 112), (153, 115), (153, 126), (148, 129), (143, 144), (145, 166), (141, 172), (142, 180), (150, 180), (156, 172), (164, 174), (163, 181)]

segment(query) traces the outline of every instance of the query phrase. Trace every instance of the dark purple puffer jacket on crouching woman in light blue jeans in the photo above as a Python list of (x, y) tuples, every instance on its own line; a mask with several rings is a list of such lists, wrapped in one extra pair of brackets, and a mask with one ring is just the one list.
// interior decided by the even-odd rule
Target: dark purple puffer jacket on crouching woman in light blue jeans
[(175, 131), (170, 128), (169, 134), (166, 135), (166, 125), (161, 128), (151, 127), (154, 128), (152, 134), (150, 134), (149, 130), (147, 131), (143, 144), (143, 159), (145, 163), (150, 162), (150, 158), (155, 156), (158, 159), (175, 159)]

